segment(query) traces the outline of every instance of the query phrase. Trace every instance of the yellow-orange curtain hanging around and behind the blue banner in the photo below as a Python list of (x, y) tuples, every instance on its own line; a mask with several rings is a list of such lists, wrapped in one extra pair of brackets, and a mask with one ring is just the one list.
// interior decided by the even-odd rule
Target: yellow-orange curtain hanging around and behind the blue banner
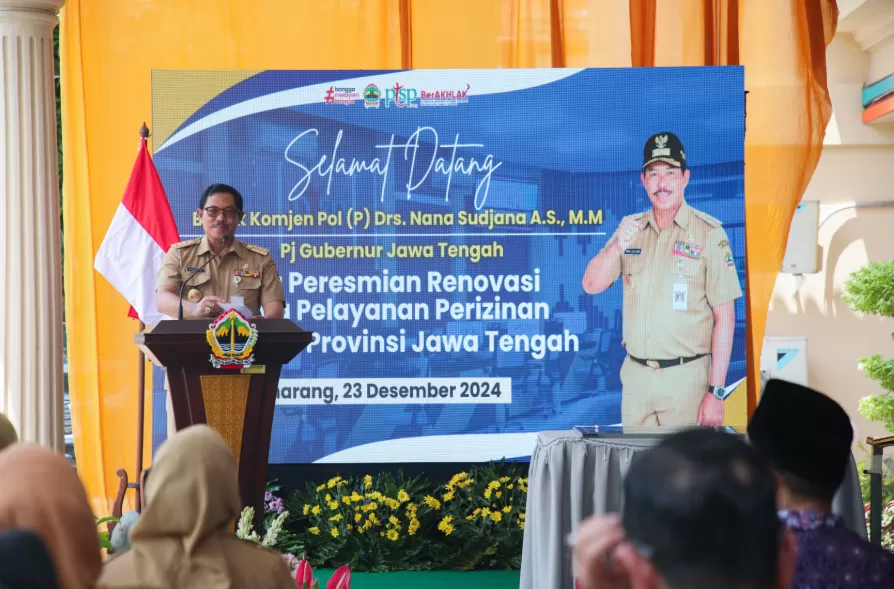
[[(92, 271), (93, 258), (136, 157), (137, 129), (150, 118), (151, 70), (744, 65), (749, 345), (758, 358), (789, 222), (831, 115), (825, 48), (837, 17), (834, 0), (254, 0), (250, 7), (68, 0), (61, 75), (69, 384), (79, 472), (95, 511), (110, 509), (117, 468), (133, 474), (137, 325)], [(750, 404), (756, 370), (749, 369)]]

